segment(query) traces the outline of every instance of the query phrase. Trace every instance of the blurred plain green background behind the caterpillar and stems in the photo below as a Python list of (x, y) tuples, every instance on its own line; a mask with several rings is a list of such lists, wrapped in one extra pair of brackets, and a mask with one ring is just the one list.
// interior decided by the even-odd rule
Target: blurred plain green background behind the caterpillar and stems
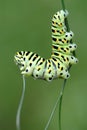
[[(87, 1), (65, 0), (79, 63), (71, 68), (62, 106), (62, 130), (87, 130)], [(60, 0), (0, 1), (0, 130), (16, 130), (15, 118), (22, 91), (22, 76), (14, 63), (16, 51), (29, 50), (48, 58), (51, 53), (51, 18)], [(62, 79), (47, 83), (26, 78), (21, 130), (44, 130), (59, 94)], [(48, 130), (58, 130), (56, 110)]]

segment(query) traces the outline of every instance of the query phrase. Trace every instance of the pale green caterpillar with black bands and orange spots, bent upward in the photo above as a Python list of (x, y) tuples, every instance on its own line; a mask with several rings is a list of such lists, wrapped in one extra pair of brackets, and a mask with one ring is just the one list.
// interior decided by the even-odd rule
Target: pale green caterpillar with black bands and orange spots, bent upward
[(56, 78), (68, 79), (68, 68), (76, 64), (78, 59), (73, 56), (77, 45), (72, 43), (73, 32), (67, 32), (65, 18), (68, 11), (60, 10), (52, 18), (52, 53), (48, 59), (29, 51), (17, 52), (15, 63), (19, 66), (21, 74), (31, 75), (36, 79), (52, 81)]

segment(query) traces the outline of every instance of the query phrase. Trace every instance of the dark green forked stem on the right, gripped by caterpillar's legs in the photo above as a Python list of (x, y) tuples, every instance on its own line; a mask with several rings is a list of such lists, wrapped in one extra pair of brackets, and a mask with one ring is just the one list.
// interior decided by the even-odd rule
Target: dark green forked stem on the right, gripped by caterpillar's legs
[[(65, 11), (66, 8), (65, 8), (64, 0), (61, 0), (61, 4), (62, 4), (62, 9)], [(70, 31), (70, 27), (69, 27), (68, 19), (67, 19), (67, 18), (65, 19), (65, 25), (66, 25), (66, 29), (67, 29), (66, 31), (69, 32), (69, 31)], [(71, 40), (71, 43), (72, 43), (72, 42), (73, 42), (73, 41)], [(75, 54), (75, 51), (73, 52), (73, 55), (74, 55), (74, 56), (76, 55), (76, 54)], [(69, 66), (68, 70), (70, 70), (71, 66), (72, 66), (72, 65)], [(52, 120), (52, 118), (53, 118), (54, 112), (55, 112), (55, 110), (56, 110), (56, 108), (57, 108), (57, 106), (58, 106), (58, 103), (59, 103), (59, 130), (61, 130), (61, 108), (62, 108), (63, 93), (64, 93), (64, 89), (65, 89), (65, 86), (66, 86), (66, 82), (67, 82), (67, 80), (64, 79), (63, 85), (62, 85), (62, 87), (61, 87), (60, 94), (59, 94), (59, 96), (57, 97), (57, 101), (56, 101), (56, 103), (55, 103), (55, 105), (54, 105), (54, 107), (53, 107), (53, 110), (52, 110), (52, 112), (51, 112), (51, 115), (50, 115), (50, 117), (49, 117), (49, 120), (48, 120), (48, 122), (47, 122), (46, 127), (45, 127), (44, 130), (47, 130), (47, 129), (48, 129), (48, 127), (49, 127), (49, 125), (50, 125), (50, 122), (51, 122), (51, 120)]]

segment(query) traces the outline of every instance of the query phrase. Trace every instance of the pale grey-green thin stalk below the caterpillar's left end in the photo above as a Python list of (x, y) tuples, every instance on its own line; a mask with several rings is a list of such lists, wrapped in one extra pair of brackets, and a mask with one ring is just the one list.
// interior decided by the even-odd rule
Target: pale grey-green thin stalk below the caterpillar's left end
[(23, 89), (22, 89), (22, 95), (20, 98), (18, 110), (17, 110), (17, 115), (16, 115), (16, 129), (21, 130), (20, 128), (20, 118), (21, 118), (21, 110), (22, 110), (22, 105), (23, 105), (23, 100), (24, 100), (24, 94), (25, 94), (25, 77), (23, 75)]

